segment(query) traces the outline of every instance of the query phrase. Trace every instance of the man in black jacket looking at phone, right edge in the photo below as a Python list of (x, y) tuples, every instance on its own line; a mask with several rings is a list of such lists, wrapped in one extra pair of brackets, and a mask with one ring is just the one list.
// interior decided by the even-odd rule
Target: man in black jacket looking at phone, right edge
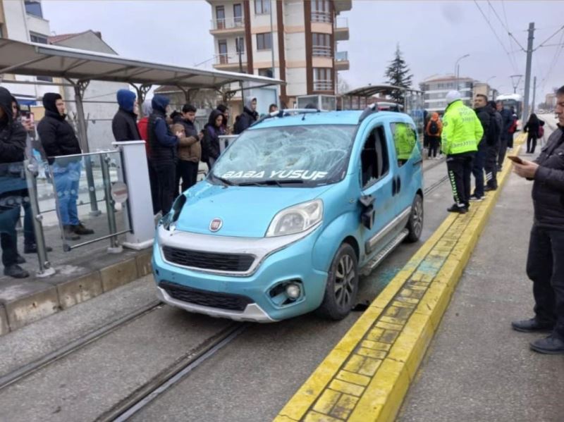
[(534, 318), (513, 321), (513, 329), (550, 331), (531, 343), (535, 352), (564, 354), (564, 86), (556, 92), (558, 129), (534, 161), (515, 163), (515, 173), (534, 180), (534, 223), (527, 275), (533, 282)]

